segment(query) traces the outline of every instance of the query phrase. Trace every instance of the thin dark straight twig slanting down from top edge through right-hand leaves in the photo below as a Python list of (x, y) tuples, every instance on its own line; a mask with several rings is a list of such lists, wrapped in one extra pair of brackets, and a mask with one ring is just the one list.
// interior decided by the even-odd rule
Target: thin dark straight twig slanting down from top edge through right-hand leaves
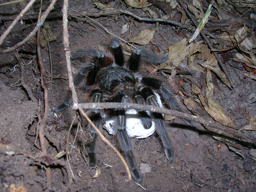
[[(177, 0), (178, 3), (180, 3), (180, 5), (183, 7), (184, 11), (186, 12), (186, 14), (189, 16), (190, 20), (192, 20), (193, 24), (197, 27), (198, 24), (196, 23), (193, 15), (189, 12), (189, 10), (186, 8), (186, 5), (182, 2), (182, 0)], [(204, 35), (204, 31), (201, 31), (200, 32), (201, 36), (204, 38), (204, 41), (206, 41), (208, 47), (213, 50), (214, 48), (212, 47), (212, 44), (210, 43), (209, 39)], [(229, 74), (227, 73), (227, 69), (226, 67), (224, 66), (224, 64), (222, 63), (221, 59), (219, 58), (218, 54), (216, 52), (213, 52), (213, 55), (215, 56), (215, 58), (217, 59), (219, 65), (221, 66), (221, 69), (223, 70), (223, 72), (225, 73), (226, 77), (227, 77), (227, 80), (229, 81), (230, 83), (230, 86), (234, 87), (234, 84), (232, 82), (232, 80), (230, 79), (230, 76)]]

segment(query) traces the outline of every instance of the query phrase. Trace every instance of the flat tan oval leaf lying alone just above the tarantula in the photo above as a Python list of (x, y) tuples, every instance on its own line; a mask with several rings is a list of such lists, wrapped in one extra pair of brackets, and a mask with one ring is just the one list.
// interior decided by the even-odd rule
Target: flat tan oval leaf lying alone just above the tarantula
[(145, 29), (139, 34), (135, 35), (129, 42), (140, 45), (146, 45), (152, 40), (155, 30)]

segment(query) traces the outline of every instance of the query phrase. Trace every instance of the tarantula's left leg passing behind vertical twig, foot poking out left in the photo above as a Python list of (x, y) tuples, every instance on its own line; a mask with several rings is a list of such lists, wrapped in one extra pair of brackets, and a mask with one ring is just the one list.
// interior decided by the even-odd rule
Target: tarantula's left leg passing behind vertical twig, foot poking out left
[[(96, 76), (96, 67), (93, 63), (87, 63), (79, 70), (78, 75), (74, 78), (74, 86), (77, 89), (86, 89), (88, 85), (91, 85), (95, 82)], [(55, 111), (61, 112), (64, 109), (68, 108), (72, 103), (72, 92), (69, 89), (64, 102), (59, 105)]]

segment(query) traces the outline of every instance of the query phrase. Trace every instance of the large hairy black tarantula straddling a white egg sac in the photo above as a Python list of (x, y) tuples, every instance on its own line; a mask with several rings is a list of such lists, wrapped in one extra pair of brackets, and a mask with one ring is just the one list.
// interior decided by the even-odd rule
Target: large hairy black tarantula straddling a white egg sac
[[(87, 99), (88, 102), (134, 102), (160, 107), (160, 99), (157, 99), (155, 93), (157, 92), (167, 108), (182, 111), (174, 98), (171, 88), (166, 82), (152, 76), (141, 75), (137, 72), (141, 62), (159, 65), (168, 59), (167, 55), (158, 57), (144, 49), (135, 49), (131, 54), (129, 62), (125, 64), (121, 44), (116, 38), (113, 38), (110, 41), (110, 52), (103, 53), (94, 49), (83, 48), (74, 52), (71, 59), (91, 61), (81, 67), (79, 74), (74, 79), (75, 88), (84, 90), (89, 96), (89, 99)], [(71, 102), (71, 90), (69, 90), (66, 99), (55, 111), (60, 112), (64, 110)], [(126, 110), (120, 109), (108, 111), (91, 110), (89, 117), (98, 128), (103, 127), (102, 118), (106, 113), (114, 119), (112, 126), (114, 135), (119, 143), (120, 151), (123, 152), (132, 177), (140, 183), (142, 181), (142, 174), (134, 160), (132, 145), (126, 131), (126, 112)], [(152, 123), (154, 123), (166, 158), (172, 161), (174, 154), (163, 114), (148, 113), (147, 111), (138, 111), (137, 113), (145, 129), (151, 128)], [(188, 125), (193, 125), (191, 121), (183, 120)], [(90, 168), (93, 169), (96, 166), (95, 145), (97, 134), (90, 124), (87, 125), (87, 130), (93, 137), (93, 141), (87, 145), (88, 163)]]

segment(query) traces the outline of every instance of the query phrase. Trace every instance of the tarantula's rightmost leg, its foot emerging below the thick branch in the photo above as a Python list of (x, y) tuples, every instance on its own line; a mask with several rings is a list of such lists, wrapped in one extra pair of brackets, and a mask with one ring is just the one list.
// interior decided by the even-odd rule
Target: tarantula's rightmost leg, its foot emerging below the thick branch
[[(143, 77), (142, 82), (159, 91), (161, 98), (164, 100), (164, 104), (166, 104), (167, 108), (183, 112), (183, 110), (177, 104), (171, 88), (165, 82), (150, 77)], [(183, 119), (183, 121), (186, 122), (187, 125), (194, 125), (194, 123), (190, 120)]]

